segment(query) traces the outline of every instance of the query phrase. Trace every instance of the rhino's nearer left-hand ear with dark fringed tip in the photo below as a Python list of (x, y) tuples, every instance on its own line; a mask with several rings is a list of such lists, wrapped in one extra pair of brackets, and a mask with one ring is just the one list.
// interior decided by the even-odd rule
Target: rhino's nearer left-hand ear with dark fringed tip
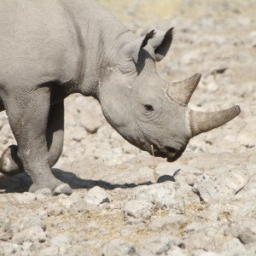
[(137, 63), (140, 50), (148, 44), (149, 39), (154, 38), (154, 34), (154, 30), (152, 30), (151, 32), (148, 32), (145, 37), (138, 38), (129, 44), (125, 44), (121, 49), (122, 54)]

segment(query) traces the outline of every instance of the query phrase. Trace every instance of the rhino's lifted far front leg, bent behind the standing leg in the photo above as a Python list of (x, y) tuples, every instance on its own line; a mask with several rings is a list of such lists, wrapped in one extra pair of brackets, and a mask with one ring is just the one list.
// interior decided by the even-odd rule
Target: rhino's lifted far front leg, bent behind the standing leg
[[(61, 101), (49, 108), (47, 125), (47, 146), (49, 166), (55, 165), (59, 160), (63, 147), (64, 137), (64, 102)], [(10, 145), (6, 148), (0, 159), (0, 180), (24, 172), (22, 163), (18, 157), (18, 147)]]

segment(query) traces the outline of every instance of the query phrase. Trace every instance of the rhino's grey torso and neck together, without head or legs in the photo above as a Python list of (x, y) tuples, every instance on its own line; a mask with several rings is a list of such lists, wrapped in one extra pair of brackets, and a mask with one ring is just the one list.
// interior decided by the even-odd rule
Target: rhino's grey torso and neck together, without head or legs
[(104, 53), (127, 31), (93, 0), (2, 0), (0, 24), (2, 88), (78, 80), (84, 95), (99, 80)]

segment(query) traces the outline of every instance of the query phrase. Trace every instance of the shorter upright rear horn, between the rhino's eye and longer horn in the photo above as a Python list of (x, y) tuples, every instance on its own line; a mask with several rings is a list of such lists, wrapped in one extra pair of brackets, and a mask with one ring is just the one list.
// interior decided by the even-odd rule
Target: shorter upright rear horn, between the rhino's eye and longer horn
[(195, 73), (195, 75), (189, 79), (173, 82), (168, 86), (167, 95), (171, 98), (172, 102), (175, 102), (182, 107), (187, 107), (200, 79), (201, 73)]

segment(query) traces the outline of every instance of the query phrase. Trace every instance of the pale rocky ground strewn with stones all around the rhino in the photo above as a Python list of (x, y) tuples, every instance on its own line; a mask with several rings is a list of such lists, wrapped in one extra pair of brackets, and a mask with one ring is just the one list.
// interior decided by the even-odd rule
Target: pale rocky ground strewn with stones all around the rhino
[[(101, 2), (137, 35), (175, 26), (161, 76), (202, 73), (189, 107), (241, 114), (167, 163), (126, 143), (95, 100), (68, 97), (53, 172), (73, 195), (28, 193), (25, 174), (0, 182), (0, 255), (255, 255), (255, 1)], [(3, 151), (14, 139), (0, 119)]]

